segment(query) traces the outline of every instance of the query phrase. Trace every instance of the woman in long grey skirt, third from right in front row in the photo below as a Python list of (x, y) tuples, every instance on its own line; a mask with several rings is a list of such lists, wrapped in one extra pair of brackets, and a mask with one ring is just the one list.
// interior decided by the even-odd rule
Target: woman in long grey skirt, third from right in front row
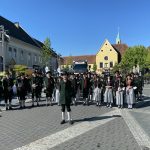
[(106, 80), (106, 90), (104, 95), (104, 102), (107, 104), (107, 107), (111, 108), (113, 104), (113, 81), (110, 75)]

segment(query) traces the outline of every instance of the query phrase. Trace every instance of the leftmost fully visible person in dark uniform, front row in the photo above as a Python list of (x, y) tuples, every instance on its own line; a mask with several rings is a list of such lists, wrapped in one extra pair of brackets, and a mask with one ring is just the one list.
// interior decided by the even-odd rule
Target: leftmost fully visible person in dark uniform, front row
[[(12, 90), (13, 85), (14, 85), (13, 79), (11, 78), (10, 74), (7, 73), (6, 77), (4, 77), (3, 79), (3, 89), (4, 89), (6, 110), (12, 109), (11, 102), (12, 102), (12, 95), (13, 95), (13, 90)], [(9, 105), (8, 105), (8, 100), (9, 100)]]

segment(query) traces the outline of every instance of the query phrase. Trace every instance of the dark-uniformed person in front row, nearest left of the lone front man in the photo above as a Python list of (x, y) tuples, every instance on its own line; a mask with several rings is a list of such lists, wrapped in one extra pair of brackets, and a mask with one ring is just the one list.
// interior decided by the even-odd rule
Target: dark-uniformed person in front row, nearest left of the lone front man
[(48, 106), (48, 101), (50, 101), (50, 105), (53, 106), (52, 94), (53, 94), (53, 90), (54, 90), (54, 79), (52, 78), (50, 71), (48, 71), (46, 73), (44, 85), (46, 88), (45, 89), (46, 90), (46, 106)]

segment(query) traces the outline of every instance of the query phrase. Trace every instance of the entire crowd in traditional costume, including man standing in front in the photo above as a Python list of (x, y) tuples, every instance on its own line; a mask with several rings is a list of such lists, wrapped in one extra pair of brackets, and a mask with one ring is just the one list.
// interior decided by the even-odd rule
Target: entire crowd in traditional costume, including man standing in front
[(25, 108), (25, 101), (31, 93), (32, 107), (40, 106), (42, 92), (45, 93), (46, 106), (53, 105), (54, 101), (61, 106), (62, 122), (65, 123), (65, 108), (68, 120), (71, 121), (70, 105), (82, 102), (89, 106), (105, 105), (123, 108), (127, 104), (132, 109), (136, 101), (142, 100), (143, 80), (138, 73), (121, 75), (119, 71), (115, 75), (100, 76), (98, 74), (68, 74), (62, 73), (54, 77), (51, 72), (46, 74), (35, 71), (32, 76), (21, 73), (15, 79), (7, 73), (0, 80), (0, 99), (4, 99), (6, 110), (12, 108), (12, 98), (17, 97), (21, 109)]

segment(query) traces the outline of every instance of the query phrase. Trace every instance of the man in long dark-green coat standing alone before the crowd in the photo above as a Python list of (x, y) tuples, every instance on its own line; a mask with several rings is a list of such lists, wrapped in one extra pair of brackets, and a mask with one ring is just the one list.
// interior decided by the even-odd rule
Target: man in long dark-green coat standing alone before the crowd
[(72, 86), (71, 81), (68, 79), (68, 75), (66, 72), (62, 74), (62, 80), (60, 82), (60, 105), (61, 105), (61, 111), (62, 111), (62, 121), (61, 124), (64, 124), (65, 121), (65, 108), (67, 109), (67, 115), (68, 115), (68, 121), (69, 124), (73, 124), (73, 121), (71, 119), (71, 98), (72, 98)]

